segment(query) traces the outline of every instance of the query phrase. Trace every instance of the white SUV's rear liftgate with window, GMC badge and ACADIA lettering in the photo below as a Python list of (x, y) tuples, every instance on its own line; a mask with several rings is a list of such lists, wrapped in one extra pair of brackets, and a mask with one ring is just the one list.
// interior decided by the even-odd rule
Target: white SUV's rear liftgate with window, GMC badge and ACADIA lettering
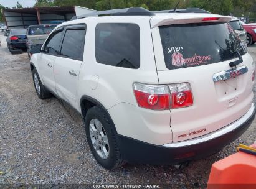
[[(181, 91), (192, 93), (192, 106), (181, 104), (170, 110), (173, 142), (227, 126), (252, 105), (252, 57), (228, 24), (229, 17), (206, 16), (151, 19), (159, 84), (178, 84), (170, 90), (181, 86)], [(238, 60), (237, 52), (243, 62), (232, 69), (229, 63)], [(184, 96), (178, 96), (179, 100)]]

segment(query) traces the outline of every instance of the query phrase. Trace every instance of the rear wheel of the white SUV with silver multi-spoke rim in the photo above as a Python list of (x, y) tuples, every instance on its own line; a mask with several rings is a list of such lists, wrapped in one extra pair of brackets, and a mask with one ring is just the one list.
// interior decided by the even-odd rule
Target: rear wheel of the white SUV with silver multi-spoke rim
[[(100, 126), (97, 127), (97, 124), (100, 125), (99, 123), (101, 124), (101, 129), (98, 129)], [(87, 141), (98, 164), (108, 170), (118, 168), (125, 164), (116, 144), (114, 128), (115, 126), (111, 118), (109, 118), (102, 108), (94, 106), (88, 110), (85, 116)]]

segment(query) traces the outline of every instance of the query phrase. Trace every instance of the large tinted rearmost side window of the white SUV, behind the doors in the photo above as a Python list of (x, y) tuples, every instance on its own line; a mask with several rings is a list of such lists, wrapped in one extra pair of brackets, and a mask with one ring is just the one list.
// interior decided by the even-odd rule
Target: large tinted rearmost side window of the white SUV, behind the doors
[(98, 63), (137, 69), (140, 67), (140, 27), (136, 24), (98, 24), (95, 32)]

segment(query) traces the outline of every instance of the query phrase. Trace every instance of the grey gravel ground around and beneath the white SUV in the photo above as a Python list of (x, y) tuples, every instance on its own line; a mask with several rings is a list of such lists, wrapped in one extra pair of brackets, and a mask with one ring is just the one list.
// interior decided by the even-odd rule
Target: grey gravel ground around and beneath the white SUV
[[(105, 170), (90, 153), (80, 115), (52, 97), (37, 98), (27, 53), (11, 55), (0, 34), (0, 184), (154, 183), (205, 185), (211, 165), (256, 139), (256, 123), (218, 154), (173, 166), (128, 164)], [(249, 47), (256, 60), (256, 44)], [(1, 185), (0, 185), (1, 188)]]

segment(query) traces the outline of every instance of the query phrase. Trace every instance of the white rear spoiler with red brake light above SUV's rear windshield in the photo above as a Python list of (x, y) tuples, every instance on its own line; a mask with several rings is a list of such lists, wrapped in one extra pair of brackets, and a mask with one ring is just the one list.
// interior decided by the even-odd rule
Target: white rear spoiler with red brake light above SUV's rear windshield
[[(192, 17), (192, 18), (191, 18)], [(178, 17), (166, 14), (164, 16), (155, 16), (151, 19), (151, 28), (159, 27), (162, 25), (172, 25), (172, 24), (189, 24), (189, 23), (204, 23), (204, 22), (230, 22), (232, 17), (221, 16), (214, 14), (204, 14), (202, 15), (186, 15), (184, 17)]]

